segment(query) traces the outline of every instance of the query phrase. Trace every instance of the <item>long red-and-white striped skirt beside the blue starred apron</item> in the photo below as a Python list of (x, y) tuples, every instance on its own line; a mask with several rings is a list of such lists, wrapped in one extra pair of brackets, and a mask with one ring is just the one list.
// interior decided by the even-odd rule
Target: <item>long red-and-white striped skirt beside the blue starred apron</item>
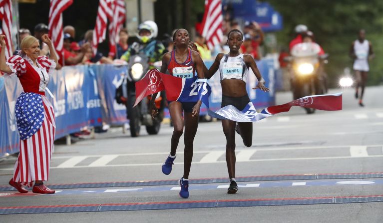
[(47, 181), (56, 129), (52, 104), (42, 96), (44, 120), (33, 136), (20, 139), (20, 153), (14, 165), (13, 181), (31, 187), (34, 181)]

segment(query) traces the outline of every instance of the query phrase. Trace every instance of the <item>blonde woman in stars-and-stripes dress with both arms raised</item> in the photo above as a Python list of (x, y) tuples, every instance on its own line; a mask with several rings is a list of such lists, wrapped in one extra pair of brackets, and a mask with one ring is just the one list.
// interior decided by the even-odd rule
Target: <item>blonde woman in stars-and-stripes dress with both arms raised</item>
[(16, 74), (24, 90), (17, 98), (15, 114), (20, 135), (20, 153), (14, 165), (9, 185), (20, 193), (28, 193), (23, 186), (31, 187), (33, 193), (53, 194), (42, 182), (48, 180), (50, 157), (53, 153), (55, 120), (53, 106), (45, 97), (46, 85), (56, 67), (57, 57), (48, 35), (42, 41), (49, 46), (50, 58), (39, 56), (38, 40), (27, 36), (21, 41), (20, 55), (5, 61), (5, 36), (0, 35), (0, 69)]

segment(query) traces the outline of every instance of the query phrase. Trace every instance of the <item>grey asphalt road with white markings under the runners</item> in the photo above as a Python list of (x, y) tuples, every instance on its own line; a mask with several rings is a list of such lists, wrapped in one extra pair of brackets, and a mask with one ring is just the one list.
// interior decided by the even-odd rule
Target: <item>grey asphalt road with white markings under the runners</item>
[[(206, 201), (218, 204), (223, 200), (272, 201), (276, 202), (274, 205), (0, 215), (0, 222), (383, 222), (383, 202), (361, 203), (363, 199), (347, 204), (280, 202), (383, 195), (383, 175), (367, 174), (383, 172), (383, 87), (367, 88), (363, 108), (353, 98), (352, 89), (333, 89), (330, 93), (340, 91), (343, 91), (342, 111), (307, 115), (303, 109), (293, 108), (254, 123), (250, 148), (244, 147), (237, 136), (236, 178), (242, 180), (235, 195), (226, 194), (229, 184), (220, 122), (199, 125), (190, 179), (205, 179), (208, 183), (191, 184), (187, 200), (178, 196), (176, 183), (161, 183), (175, 182), (183, 172), (182, 139), (172, 173), (166, 176), (161, 172), (172, 134), (168, 124), (155, 136), (148, 136), (143, 128), (142, 136), (131, 138), (116, 128), (96, 134), (95, 139), (78, 140), (71, 146), (56, 145), (47, 184), (74, 184), (72, 188), (57, 189), (54, 195), (0, 192), (0, 212), (1, 208), (24, 206), (198, 205)], [(277, 94), (277, 104), (291, 99), (288, 92)], [(0, 185), (5, 186), (9, 181), (14, 161), (14, 157), (9, 157), (0, 162)], [(344, 177), (331, 177), (340, 173)], [(154, 185), (153, 181), (160, 183)], [(78, 186), (98, 182), (109, 184)], [(138, 182), (138, 185), (118, 187), (110, 182)], [(147, 186), (145, 182), (153, 185)], [(245, 203), (241, 201), (236, 206), (246, 206)]]

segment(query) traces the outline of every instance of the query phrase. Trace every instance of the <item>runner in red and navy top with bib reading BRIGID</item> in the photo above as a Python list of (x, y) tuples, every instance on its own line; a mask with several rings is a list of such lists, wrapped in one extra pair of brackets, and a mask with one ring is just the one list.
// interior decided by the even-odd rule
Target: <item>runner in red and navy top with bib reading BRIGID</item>
[[(174, 32), (173, 41), (175, 49), (171, 52), (165, 53), (162, 57), (161, 73), (169, 71), (170, 75), (181, 78), (193, 78), (197, 76), (197, 81), (203, 81), (203, 61), (200, 55), (189, 49), (189, 33), (186, 29), (178, 29)], [(156, 95), (153, 95), (152, 99)], [(152, 104), (152, 115), (157, 115), (155, 110), (154, 102)], [(172, 135), (170, 145), (170, 155), (167, 157), (165, 163), (162, 166), (162, 172), (166, 175), (170, 174), (173, 166), (173, 162), (176, 158), (176, 149), (178, 146), (179, 139), (183, 133), (185, 127), (185, 152), (184, 152), (184, 174), (180, 179), (180, 196), (182, 198), (189, 197), (189, 172), (193, 158), (193, 141), (197, 133), (199, 110), (201, 107), (201, 100), (193, 102), (180, 102), (180, 101), (168, 101), (170, 117), (173, 121), (174, 131)], [(182, 110), (184, 115), (182, 118)]]

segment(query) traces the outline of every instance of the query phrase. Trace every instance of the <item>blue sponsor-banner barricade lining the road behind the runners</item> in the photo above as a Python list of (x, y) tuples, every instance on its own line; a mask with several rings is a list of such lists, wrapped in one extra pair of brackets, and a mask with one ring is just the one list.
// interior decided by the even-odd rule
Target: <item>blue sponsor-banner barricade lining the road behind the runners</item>
[[(213, 61), (205, 61), (207, 67)], [(247, 89), (250, 100), (256, 108), (275, 103), (275, 69), (273, 59), (257, 61), (261, 74), (271, 90), (269, 94), (259, 94), (252, 90), (256, 77), (250, 71)], [(251, 69), (250, 69), (251, 70)], [(111, 64), (65, 66), (56, 70), (50, 77), (48, 88), (53, 98), (46, 97), (54, 107), (56, 118), (55, 139), (75, 133), (86, 126), (123, 125), (127, 123), (126, 107), (114, 99), (116, 88), (128, 75), (128, 67)], [(212, 110), (221, 107), (222, 90), (219, 74), (215, 74), (209, 84), (212, 89), (209, 103)], [(22, 92), (16, 75), (0, 77), (0, 157), (19, 151), (19, 135), (14, 115), (17, 97)], [(201, 107), (201, 115), (207, 114), (206, 106)], [(169, 112), (165, 110), (165, 117)]]

